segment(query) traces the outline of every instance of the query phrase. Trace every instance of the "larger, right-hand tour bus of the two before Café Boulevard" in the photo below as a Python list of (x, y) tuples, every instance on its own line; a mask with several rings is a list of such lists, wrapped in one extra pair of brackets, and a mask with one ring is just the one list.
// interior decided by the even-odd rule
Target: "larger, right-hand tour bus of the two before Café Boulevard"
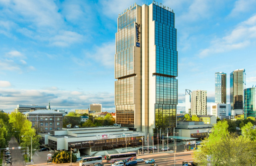
[(108, 163), (113, 163), (118, 160), (135, 160), (136, 152), (127, 152), (127, 153), (117, 153), (117, 154), (109, 154), (106, 156), (106, 160)]

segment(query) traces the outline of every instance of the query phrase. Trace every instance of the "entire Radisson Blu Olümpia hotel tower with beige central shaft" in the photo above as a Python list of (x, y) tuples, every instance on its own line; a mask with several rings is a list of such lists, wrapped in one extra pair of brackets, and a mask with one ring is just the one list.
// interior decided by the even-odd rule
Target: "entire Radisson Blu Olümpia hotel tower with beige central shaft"
[(174, 13), (155, 1), (135, 3), (119, 14), (117, 25), (116, 123), (149, 135), (162, 128), (166, 135), (176, 126)]

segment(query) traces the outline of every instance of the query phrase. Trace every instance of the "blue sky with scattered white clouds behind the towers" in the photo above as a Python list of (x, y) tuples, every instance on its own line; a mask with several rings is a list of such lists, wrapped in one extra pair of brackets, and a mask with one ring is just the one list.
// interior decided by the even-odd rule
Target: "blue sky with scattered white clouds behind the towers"
[[(52, 109), (115, 112), (114, 55), (118, 14), (134, 4), (120, 0), (0, 0), (0, 109), (18, 104)], [(245, 69), (256, 85), (256, 0), (163, 0), (175, 13), (178, 51), (177, 112), (185, 89), (207, 90), (214, 74)]]

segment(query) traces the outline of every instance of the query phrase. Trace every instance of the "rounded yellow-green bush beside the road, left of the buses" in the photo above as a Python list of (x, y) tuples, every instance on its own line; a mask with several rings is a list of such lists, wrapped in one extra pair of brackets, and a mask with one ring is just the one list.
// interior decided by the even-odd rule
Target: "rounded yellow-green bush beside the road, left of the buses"
[[(72, 162), (76, 162), (76, 159), (77, 159), (76, 155), (72, 154)], [(68, 151), (56, 152), (52, 156), (52, 162), (56, 164), (70, 162), (70, 152)]]

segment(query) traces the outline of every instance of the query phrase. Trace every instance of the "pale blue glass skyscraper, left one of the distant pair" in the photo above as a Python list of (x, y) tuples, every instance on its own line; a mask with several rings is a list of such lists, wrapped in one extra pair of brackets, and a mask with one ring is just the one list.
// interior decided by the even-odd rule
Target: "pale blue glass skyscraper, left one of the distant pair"
[(215, 103), (227, 103), (227, 74), (215, 73)]

